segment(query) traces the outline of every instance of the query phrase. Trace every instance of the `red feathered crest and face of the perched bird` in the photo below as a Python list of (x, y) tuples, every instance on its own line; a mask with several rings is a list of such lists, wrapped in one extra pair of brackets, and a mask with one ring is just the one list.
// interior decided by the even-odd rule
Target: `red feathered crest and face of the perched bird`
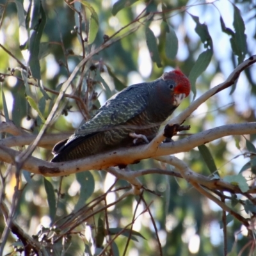
[(175, 82), (174, 93), (185, 93), (186, 97), (188, 97), (191, 88), (189, 79), (179, 69), (164, 73), (162, 78), (163, 80), (173, 80)]

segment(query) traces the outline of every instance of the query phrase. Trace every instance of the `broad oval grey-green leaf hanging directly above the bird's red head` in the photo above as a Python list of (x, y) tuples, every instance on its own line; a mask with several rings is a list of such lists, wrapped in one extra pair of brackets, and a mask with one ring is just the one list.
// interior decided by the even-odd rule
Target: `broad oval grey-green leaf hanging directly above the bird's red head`
[(174, 60), (178, 52), (178, 38), (171, 26), (169, 26), (169, 32), (166, 32), (165, 40), (165, 54), (166, 57)]

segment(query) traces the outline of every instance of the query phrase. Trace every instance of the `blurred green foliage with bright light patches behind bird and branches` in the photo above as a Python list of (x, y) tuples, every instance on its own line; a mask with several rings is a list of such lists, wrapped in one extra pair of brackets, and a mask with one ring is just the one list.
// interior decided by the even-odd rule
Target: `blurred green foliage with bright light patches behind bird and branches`
[[(255, 17), (253, 1), (4, 0), (0, 3), (1, 122), (10, 118), (17, 127), (38, 134), (63, 90), (63, 82), (88, 56), (67, 88), (62, 109), (48, 127), (48, 134), (73, 132), (115, 92), (132, 83), (156, 79), (175, 67), (195, 85), (190, 99), (175, 111), (177, 115), (189, 100), (221, 83), (238, 63), (255, 54)], [(189, 132), (255, 121), (255, 72), (255, 67), (248, 68), (232, 90), (215, 95), (196, 109), (186, 120), (191, 125)], [(10, 136), (2, 134), (1, 138)], [(243, 174), (252, 186), (255, 180), (250, 179), (254, 176), (248, 168), (255, 168), (255, 160), (248, 152), (254, 152), (255, 139), (255, 134), (228, 136), (207, 144), (206, 149), (195, 148), (178, 157), (207, 176), (216, 173), (217, 168), (221, 177), (236, 176), (249, 162)], [(37, 148), (33, 156), (49, 161), (51, 150)], [(211, 161), (207, 162), (209, 157)], [(131, 166), (134, 171), (146, 168), (172, 170), (172, 166), (152, 159)], [(1, 163), (1, 176), (7, 173), (6, 179), (1, 179), (1, 202), (10, 205), (15, 172)], [(60, 230), (67, 231), (54, 241), (52, 252), (45, 247), (48, 255), (98, 255), (106, 240), (113, 238), (111, 246), (100, 255), (124, 255), (124, 250), (126, 255), (159, 255), (156, 235), (163, 255), (223, 255), (220, 207), (186, 180), (159, 174), (140, 180), (161, 196), (145, 191), (145, 202), (129, 196), (108, 211), (89, 214), (90, 218), (84, 220), (83, 214), (88, 216), (92, 204), (104, 208), (129, 184), (124, 180), (114, 183), (115, 178), (102, 171), (51, 179), (22, 171), (15, 221), (42, 246), (45, 237), (58, 237)], [(239, 180), (228, 181), (239, 184)], [(116, 191), (108, 193), (109, 188)], [(239, 199), (244, 200), (239, 196), (233, 201)], [(233, 201), (226, 200), (230, 205)], [(150, 204), (154, 222), (146, 204)], [(255, 205), (232, 207), (253, 220)], [(1, 233), (4, 225), (1, 216)], [(72, 229), (72, 225), (77, 227)], [(8, 236), (4, 255), (14, 250), (19, 255), (23, 250), (16, 239), (14, 234)], [(227, 226), (227, 251), (237, 255), (243, 249), (243, 255), (255, 255), (249, 254), (251, 246), (246, 248), (250, 243), (255, 241), (246, 236), (238, 220), (232, 219)]]

